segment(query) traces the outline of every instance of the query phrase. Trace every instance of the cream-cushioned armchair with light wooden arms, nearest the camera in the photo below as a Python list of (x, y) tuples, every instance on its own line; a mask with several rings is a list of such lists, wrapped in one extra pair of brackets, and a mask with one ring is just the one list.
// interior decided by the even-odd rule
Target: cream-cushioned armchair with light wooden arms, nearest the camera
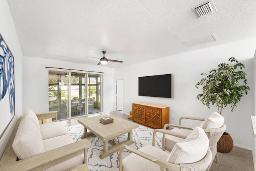
[[(205, 171), (212, 160), (209, 140), (200, 127), (194, 130), (181, 143), (176, 143), (169, 154), (154, 146), (156, 132), (185, 137), (164, 129), (155, 129), (152, 145), (137, 150), (127, 145), (120, 147), (119, 171)], [(122, 159), (124, 149), (132, 154)]]

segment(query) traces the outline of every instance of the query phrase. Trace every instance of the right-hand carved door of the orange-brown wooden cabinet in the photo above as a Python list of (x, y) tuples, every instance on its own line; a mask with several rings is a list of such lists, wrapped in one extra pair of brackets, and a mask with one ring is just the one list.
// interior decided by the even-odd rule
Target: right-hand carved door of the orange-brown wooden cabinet
[(159, 108), (146, 106), (145, 124), (151, 127), (161, 128), (162, 110)]

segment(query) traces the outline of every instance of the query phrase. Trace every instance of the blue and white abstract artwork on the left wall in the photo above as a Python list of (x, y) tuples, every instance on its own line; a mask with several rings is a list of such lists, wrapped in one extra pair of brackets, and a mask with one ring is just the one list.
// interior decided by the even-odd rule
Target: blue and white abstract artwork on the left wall
[(14, 116), (14, 57), (0, 34), (0, 135)]

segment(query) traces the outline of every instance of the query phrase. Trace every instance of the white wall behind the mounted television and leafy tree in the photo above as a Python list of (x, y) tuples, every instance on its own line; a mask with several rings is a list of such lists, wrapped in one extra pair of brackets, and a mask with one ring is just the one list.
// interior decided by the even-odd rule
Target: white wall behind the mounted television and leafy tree
[[(115, 80), (124, 80), (124, 113), (132, 110), (134, 102), (148, 102), (170, 106), (170, 123), (178, 124), (178, 118), (184, 115), (208, 117), (217, 107), (208, 109), (196, 95), (202, 89), (196, 89), (196, 83), (201, 79), (202, 72), (208, 73), (218, 64), (228, 62), (234, 56), (244, 63), (248, 86), (251, 90), (242, 97), (240, 103), (231, 113), (230, 107), (222, 110), (234, 145), (252, 150), (252, 125), (250, 115), (253, 114), (253, 55), (256, 48), (256, 38), (214, 46), (184, 54), (160, 58), (140, 64), (134, 64), (115, 69)], [(172, 98), (138, 96), (138, 77), (159, 74), (172, 74)], [(172, 121), (174, 117), (174, 121)]]

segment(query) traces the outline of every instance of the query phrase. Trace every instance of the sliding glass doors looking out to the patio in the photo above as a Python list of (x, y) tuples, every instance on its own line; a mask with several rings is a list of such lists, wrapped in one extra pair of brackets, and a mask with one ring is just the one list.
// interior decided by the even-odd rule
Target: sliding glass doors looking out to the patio
[(58, 120), (101, 112), (101, 74), (48, 70), (49, 111)]

